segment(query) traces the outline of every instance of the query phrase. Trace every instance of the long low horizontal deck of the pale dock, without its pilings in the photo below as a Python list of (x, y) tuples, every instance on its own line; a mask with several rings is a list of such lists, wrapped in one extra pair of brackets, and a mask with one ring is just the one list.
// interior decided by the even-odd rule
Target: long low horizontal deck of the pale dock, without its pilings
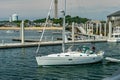
[[(101, 40), (77, 40), (77, 41), (68, 41), (66, 44), (72, 43), (98, 43), (98, 42), (107, 42), (106, 39)], [(0, 49), (6, 48), (25, 48), (25, 47), (37, 47), (38, 45), (41, 46), (54, 46), (54, 45), (61, 45), (62, 41), (46, 41), (46, 42), (25, 42), (23, 43), (1, 43)]]

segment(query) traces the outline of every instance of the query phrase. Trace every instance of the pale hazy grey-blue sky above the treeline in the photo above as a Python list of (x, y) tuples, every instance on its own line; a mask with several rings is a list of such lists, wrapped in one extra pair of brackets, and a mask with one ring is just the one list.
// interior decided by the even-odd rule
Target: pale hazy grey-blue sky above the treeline
[[(9, 20), (18, 14), (20, 20), (45, 18), (52, 0), (0, 0), (0, 20)], [(58, 17), (64, 8), (64, 0), (58, 0)], [(120, 0), (66, 0), (66, 14), (93, 20), (106, 20), (107, 15), (119, 11)], [(54, 4), (51, 10), (54, 15)]]

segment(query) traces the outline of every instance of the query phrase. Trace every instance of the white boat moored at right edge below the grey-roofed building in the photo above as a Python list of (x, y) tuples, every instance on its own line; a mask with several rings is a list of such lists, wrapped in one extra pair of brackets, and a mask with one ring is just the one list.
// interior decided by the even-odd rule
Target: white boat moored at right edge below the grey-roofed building
[(113, 28), (112, 37), (107, 40), (108, 42), (120, 42), (120, 26)]

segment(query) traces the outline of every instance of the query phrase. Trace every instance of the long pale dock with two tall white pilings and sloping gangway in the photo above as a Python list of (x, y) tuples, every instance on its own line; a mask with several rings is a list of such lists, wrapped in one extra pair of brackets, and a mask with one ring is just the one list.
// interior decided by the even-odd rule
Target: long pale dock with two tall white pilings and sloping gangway
[[(25, 39), (24, 36), (24, 21), (22, 21), (21, 23), (21, 38), (16, 38), (16, 39), (12, 39), (13, 41), (20, 41), (19, 43), (4, 43), (2, 42), (0, 44), (0, 48), (24, 48), (24, 47), (37, 47), (39, 44), (41, 46), (53, 46), (53, 45), (61, 45), (62, 44), (62, 40), (59, 41), (41, 41), (39, 42), (39, 40), (32, 40), (32, 39)], [(75, 40), (75, 32), (74, 32), (74, 24), (72, 25), (72, 40), (68, 40), (66, 42), (66, 44), (72, 44), (72, 43), (98, 43), (98, 42), (107, 42), (107, 38), (104, 37), (97, 37), (98, 35), (91, 35), (85, 32), (85, 30), (80, 27), (79, 30), (81, 30), (83, 33), (82, 34), (86, 34), (88, 36), (94, 36), (94, 39), (79, 39), (79, 40)], [(95, 38), (96, 37), (96, 38)]]

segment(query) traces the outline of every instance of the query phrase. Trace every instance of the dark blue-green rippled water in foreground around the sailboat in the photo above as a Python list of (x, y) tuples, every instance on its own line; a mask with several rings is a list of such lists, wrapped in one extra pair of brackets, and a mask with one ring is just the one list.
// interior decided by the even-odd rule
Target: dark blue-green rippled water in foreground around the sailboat
[[(11, 34), (11, 36), (14, 35)], [(9, 40), (8, 42), (12, 41)], [(91, 43), (79, 43), (78, 45), (83, 44), (91, 45)], [(78, 47), (78, 45), (75, 45), (75, 47)], [(105, 56), (120, 59), (120, 43), (96, 43), (95, 46), (97, 50), (104, 50)], [(0, 80), (102, 80), (119, 70), (120, 66), (120, 63), (107, 64), (103, 62), (41, 68), (38, 67), (35, 60), (36, 48), (0, 49)], [(61, 51), (61, 45), (40, 48), (43, 55)]]

